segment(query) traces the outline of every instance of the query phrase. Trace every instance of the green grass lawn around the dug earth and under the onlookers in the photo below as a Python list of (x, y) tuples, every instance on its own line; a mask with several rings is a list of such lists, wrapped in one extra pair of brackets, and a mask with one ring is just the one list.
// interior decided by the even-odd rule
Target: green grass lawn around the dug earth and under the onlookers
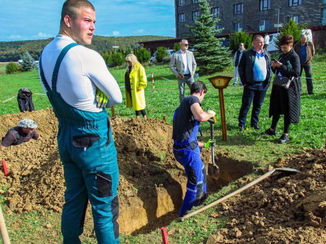
[[(207, 80), (208, 77), (214, 75), (228, 75), (233, 76), (233, 67), (228, 67), (224, 72), (216, 73), (210, 76), (201, 76), (199, 80), (204, 81), (207, 84), (208, 92), (202, 103), (203, 109), (213, 109), (217, 112), (218, 123), (215, 125), (215, 138), (217, 140), (216, 150), (219, 153), (223, 153), (230, 158), (236, 160), (247, 160), (258, 167), (266, 167), (268, 164), (272, 164), (277, 158), (284, 157), (286, 154), (292, 154), (303, 150), (305, 147), (311, 148), (321, 148), (325, 144), (325, 128), (326, 128), (326, 52), (319, 52), (313, 59), (312, 74), (313, 74), (313, 86), (314, 95), (307, 95), (305, 80), (302, 84), (302, 94), (301, 94), (301, 120), (298, 124), (292, 124), (290, 127), (290, 143), (286, 145), (280, 145), (275, 143), (278, 137), (262, 136), (260, 133), (262, 130), (267, 129), (271, 124), (271, 118), (268, 118), (268, 108), (269, 108), (269, 97), (271, 88), (269, 88), (264, 104), (260, 113), (259, 126), (262, 127), (261, 131), (256, 131), (250, 128), (250, 113), (248, 113), (247, 126), (249, 127), (245, 133), (238, 131), (238, 113), (241, 106), (242, 97), (242, 87), (232, 87), (232, 82), (230, 82), (229, 87), (224, 90), (224, 100), (225, 100), (225, 111), (226, 111), (226, 121), (227, 121), (227, 133), (228, 140), (222, 140), (221, 133), (221, 120), (220, 120), (220, 108), (219, 108), (219, 97), (218, 90), (215, 90), (213, 86)], [(0, 66), (0, 72), (3, 67)], [(176, 77), (169, 70), (168, 65), (153, 65), (145, 66), (146, 74), (153, 72), (159, 76), (162, 76), (168, 80), (161, 79), (157, 76), (155, 79), (155, 92), (152, 92), (151, 77), (148, 77), (148, 85), (145, 88), (145, 98), (146, 98), (146, 112), (149, 118), (159, 118), (166, 116), (167, 122), (172, 122), (172, 117), (174, 110), (179, 106), (179, 91), (178, 84), (176, 82)], [(124, 97), (124, 72), (125, 68), (114, 68), (110, 69), (110, 72), (117, 80), (119, 86), (121, 87), (121, 92)], [(304, 74), (302, 74), (304, 76)], [(12, 75), (6, 75), (0, 73), (0, 101), (4, 101), (13, 96), (17, 96), (17, 92), (22, 87), (28, 87), (34, 94), (44, 93), (40, 81), (38, 78), (38, 72), (26, 72), (26, 73), (16, 73)], [(187, 88), (186, 94), (189, 94), (189, 89)], [(50, 106), (50, 103), (46, 96), (43, 95), (33, 95), (33, 101), (36, 109), (44, 109)], [(18, 113), (17, 98), (0, 104), (0, 115), (7, 113)], [(111, 111), (108, 109), (108, 112)], [(115, 106), (115, 112), (121, 117), (132, 118), (135, 117), (134, 111), (132, 109), (126, 109), (123, 104)], [(207, 122), (201, 123), (201, 128), (204, 132), (204, 138), (202, 140), (207, 140), (209, 138), (209, 124)], [(277, 131), (279, 135), (283, 129), (283, 119), (281, 117)], [(222, 194), (230, 192), (233, 189), (233, 184), (223, 188), (221, 191), (212, 194), (209, 198), (209, 202), (218, 199)], [(3, 201), (0, 198), (0, 202)], [(195, 218), (186, 220), (183, 223), (178, 221), (173, 221), (169, 226), (170, 229), (181, 229), (176, 235), (169, 236), (170, 241), (173, 243), (199, 243), (201, 241), (205, 242), (208, 235), (214, 232), (217, 228), (223, 226), (226, 220), (220, 219), (217, 222), (210, 223), (207, 222), (207, 217), (210, 215), (212, 210), (208, 210), (201, 213)], [(51, 214), (56, 215), (50, 211)], [(32, 214), (32, 213), (31, 213)], [(37, 212), (34, 213), (32, 219), (38, 222), (41, 221), (44, 216), (40, 216)], [(16, 215), (15, 215), (16, 216)], [(6, 221), (13, 223), (10, 218), (15, 217), (14, 215), (6, 215)], [(22, 222), (30, 221), (30, 215), (24, 214), (22, 217)], [(35, 220), (35, 218), (37, 220)], [(60, 219), (60, 218), (58, 218)], [(59, 220), (58, 220), (59, 221)], [(26, 223), (27, 224), (27, 223)], [(33, 225), (33, 223), (32, 223)], [(10, 225), (9, 225), (10, 226)], [(191, 230), (196, 232), (196, 235), (189, 234)], [(11, 233), (14, 236), (22, 236), (30, 238), (31, 233), (20, 231), (19, 233)], [(60, 236), (60, 228), (57, 230)], [(179, 237), (182, 236), (181, 239)], [(87, 237), (86, 237), (87, 238)], [(16, 238), (18, 239), (18, 238)], [(159, 229), (148, 233), (140, 234), (137, 236), (125, 236), (121, 235), (122, 243), (161, 243), (161, 237)], [(94, 239), (85, 239), (85, 243), (93, 243)], [(27, 243), (27, 242), (26, 242)]]

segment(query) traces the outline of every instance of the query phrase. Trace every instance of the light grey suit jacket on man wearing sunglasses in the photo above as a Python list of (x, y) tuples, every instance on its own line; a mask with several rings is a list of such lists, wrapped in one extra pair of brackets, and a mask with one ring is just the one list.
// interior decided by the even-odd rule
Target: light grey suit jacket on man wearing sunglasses
[[(187, 62), (191, 76), (194, 76), (197, 64), (195, 61), (194, 54), (191, 51), (187, 51)], [(169, 67), (176, 77), (178, 77), (179, 75), (184, 76), (186, 67), (182, 60), (181, 50), (172, 55)]]

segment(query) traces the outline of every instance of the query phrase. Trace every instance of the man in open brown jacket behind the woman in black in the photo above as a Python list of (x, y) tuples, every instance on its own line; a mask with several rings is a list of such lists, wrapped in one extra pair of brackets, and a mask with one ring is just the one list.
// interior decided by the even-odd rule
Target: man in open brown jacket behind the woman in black
[(304, 69), (308, 94), (313, 95), (313, 91), (312, 91), (313, 86), (312, 86), (312, 78), (311, 78), (312, 77), (311, 62), (312, 62), (312, 56), (315, 54), (315, 51), (314, 51), (313, 43), (307, 41), (306, 34), (302, 34), (300, 36), (300, 42), (294, 45), (294, 52), (300, 58), (300, 77)]

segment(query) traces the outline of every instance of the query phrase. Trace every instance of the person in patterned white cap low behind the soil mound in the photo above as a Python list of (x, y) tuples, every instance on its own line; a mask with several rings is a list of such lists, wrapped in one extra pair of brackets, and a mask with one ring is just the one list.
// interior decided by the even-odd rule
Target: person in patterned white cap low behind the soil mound
[(31, 119), (19, 121), (18, 126), (11, 128), (2, 138), (0, 149), (28, 142), (32, 138), (40, 140), (41, 136), (36, 132), (37, 123)]

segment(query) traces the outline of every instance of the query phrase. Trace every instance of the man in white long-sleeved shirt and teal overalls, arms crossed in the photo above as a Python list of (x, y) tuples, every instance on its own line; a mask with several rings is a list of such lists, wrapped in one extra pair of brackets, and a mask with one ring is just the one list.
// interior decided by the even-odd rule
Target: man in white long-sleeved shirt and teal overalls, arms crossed
[(94, 24), (90, 2), (65, 1), (59, 35), (39, 61), (41, 84), (59, 121), (58, 149), (67, 188), (61, 232), (67, 244), (81, 243), (88, 199), (97, 242), (119, 243), (119, 170), (103, 107), (107, 99), (108, 106), (121, 103), (122, 95), (103, 58), (79, 45), (91, 44)]

